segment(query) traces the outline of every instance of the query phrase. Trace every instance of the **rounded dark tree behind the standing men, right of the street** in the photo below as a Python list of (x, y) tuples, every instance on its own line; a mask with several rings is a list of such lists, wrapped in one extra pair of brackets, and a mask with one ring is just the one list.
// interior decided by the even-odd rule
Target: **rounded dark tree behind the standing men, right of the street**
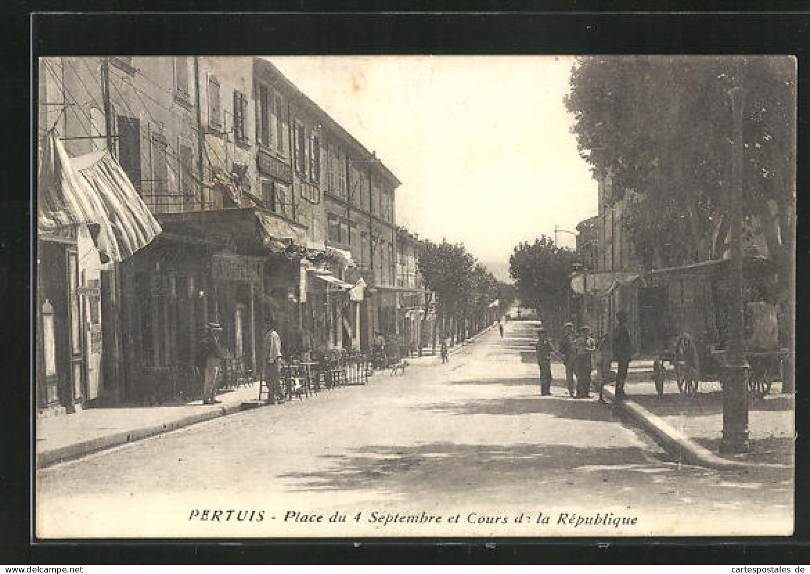
[(548, 236), (518, 244), (509, 257), (509, 276), (515, 280), (521, 305), (538, 313), (559, 313), (565, 308), (576, 259), (576, 253)]

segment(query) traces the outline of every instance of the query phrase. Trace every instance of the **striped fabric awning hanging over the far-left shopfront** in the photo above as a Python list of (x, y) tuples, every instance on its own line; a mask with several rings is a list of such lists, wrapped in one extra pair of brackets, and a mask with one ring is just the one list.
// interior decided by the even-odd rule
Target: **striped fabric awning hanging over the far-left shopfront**
[(40, 233), (98, 226), (96, 244), (113, 261), (130, 257), (160, 233), (160, 224), (107, 150), (71, 158), (52, 132), (43, 144), (37, 183)]

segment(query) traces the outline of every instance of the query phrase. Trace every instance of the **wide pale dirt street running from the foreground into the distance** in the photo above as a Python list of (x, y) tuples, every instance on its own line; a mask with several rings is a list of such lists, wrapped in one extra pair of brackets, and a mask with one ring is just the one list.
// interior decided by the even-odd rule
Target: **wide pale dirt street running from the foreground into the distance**
[[(560, 364), (552, 397), (541, 398), (533, 326), (508, 322), (503, 339), (489, 330), (449, 364), (413, 359), (404, 376), (377, 374), (366, 386), (41, 470), (38, 534), (643, 536), (790, 528), (789, 469), (678, 466), (610, 407), (568, 398)], [(345, 521), (330, 522), (335, 512)], [(540, 512), (550, 520), (538, 523)], [(573, 517), (606, 512), (635, 524), (576, 525)], [(377, 520), (388, 513), (420, 519)]]

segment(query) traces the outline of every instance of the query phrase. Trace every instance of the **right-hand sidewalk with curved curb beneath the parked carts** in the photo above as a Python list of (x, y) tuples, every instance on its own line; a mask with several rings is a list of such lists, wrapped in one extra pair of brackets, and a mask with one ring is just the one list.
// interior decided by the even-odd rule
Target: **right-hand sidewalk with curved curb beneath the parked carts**
[[(679, 460), (717, 469), (791, 465), (794, 457), (794, 398), (774, 383), (770, 393), (748, 406), (751, 449), (744, 454), (720, 454), (723, 436), (723, 391), (718, 382), (701, 382), (696, 398), (678, 392), (667, 377), (664, 394), (655, 393), (651, 368), (631, 364), (625, 401), (616, 405)], [(605, 387), (614, 402), (613, 385)]]

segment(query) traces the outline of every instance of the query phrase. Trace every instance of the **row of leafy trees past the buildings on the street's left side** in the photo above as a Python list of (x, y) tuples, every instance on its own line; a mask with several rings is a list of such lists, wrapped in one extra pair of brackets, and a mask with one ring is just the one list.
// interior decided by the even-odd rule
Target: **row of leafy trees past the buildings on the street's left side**
[(426, 287), (437, 294), (437, 328), (453, 343), (484, 329), (492, 301), (499, 300), (501, 309), (509, 302), (511, 286), (499, 282), (463, 244), (424, 240), (417, 266)]

